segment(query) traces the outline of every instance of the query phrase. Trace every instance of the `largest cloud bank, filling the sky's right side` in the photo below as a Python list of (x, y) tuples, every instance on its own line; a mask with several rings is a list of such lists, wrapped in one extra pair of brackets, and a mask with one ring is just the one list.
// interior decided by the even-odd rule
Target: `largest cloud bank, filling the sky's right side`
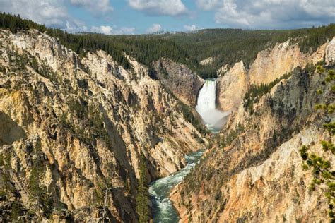
[(232, 28), (296, 28), (334, 22), (334, 0), (197, 0)]

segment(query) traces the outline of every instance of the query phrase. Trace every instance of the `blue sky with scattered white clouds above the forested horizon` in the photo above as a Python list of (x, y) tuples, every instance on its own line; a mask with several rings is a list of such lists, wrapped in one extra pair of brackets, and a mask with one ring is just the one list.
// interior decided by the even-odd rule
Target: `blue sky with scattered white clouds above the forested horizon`
[(0, 0), (0, 11), (67, 32), (107, 35), (335, 23), (335, 0)]

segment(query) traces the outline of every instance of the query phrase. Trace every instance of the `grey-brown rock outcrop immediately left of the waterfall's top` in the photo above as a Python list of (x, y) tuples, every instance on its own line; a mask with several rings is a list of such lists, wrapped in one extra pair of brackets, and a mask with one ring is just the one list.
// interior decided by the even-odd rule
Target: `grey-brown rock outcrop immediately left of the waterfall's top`
[(155, 76), (185, 104), (196, 106), (196, 98), (204, 79), (191, 71), (184, 64), (177, 64), (170, 59), (153, 62)]

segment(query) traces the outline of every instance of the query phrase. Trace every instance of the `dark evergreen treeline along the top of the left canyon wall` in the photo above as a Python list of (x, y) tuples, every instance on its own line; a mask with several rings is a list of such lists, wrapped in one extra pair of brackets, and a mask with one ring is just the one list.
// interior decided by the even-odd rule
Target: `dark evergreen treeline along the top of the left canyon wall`
[(172, 40), (158, 39), (155, 37), (137, 38), (132, 36), (109, 36), (98, 33), (69, 34), (63, 30), (46, 28), (32, 20), (12, 16), (10, 14), (0, 14), (0, 28), (8, 28), (11, 32), (17, 32), (25, 28), (33, 28), (40, 32), (47, 32), (48, 35), (56, 37), (65, 47), (83, 56), (86, 52), (95, 52), (102, 49), (110, 54), (121, 66), (131, 68), (129, 61), (122, 52), (133, 56), (137, 61), (147, 66), (152, 61), (165, 56), (182, 64), (187, 64), (190, 68), (197, 66), (196, 61), (189, 59), (187, 51)]

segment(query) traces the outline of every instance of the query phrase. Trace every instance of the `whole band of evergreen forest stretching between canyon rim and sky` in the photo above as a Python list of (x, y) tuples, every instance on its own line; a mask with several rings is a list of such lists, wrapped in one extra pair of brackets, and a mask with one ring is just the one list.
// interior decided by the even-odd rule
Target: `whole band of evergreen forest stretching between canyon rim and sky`
[[(207, 29), (161, 35), (69, 34), (7, 13), (0, 14), (0, 28), (8, 28), (12, 32), (23, 28), (47, 32), (80, 55), (102, 49), (126, 69), (130, 69), (131, 65), (122, 52), (148, 67), (151, 67), (153, 61), (167, 57), (186, 64), (203, 78), (215, 78), (218, 68), (225, 64), (233, 66), (242, 60), (249, 66), (259, 51), (277, 42), (285, 42), (288, 38), (293, 38), (302, 52), (313, 52), (335, 36), (334, 23), (298, 30)], [(199, 61), (208, 57), (214, 58), (213, 64), (199, 64)]]

